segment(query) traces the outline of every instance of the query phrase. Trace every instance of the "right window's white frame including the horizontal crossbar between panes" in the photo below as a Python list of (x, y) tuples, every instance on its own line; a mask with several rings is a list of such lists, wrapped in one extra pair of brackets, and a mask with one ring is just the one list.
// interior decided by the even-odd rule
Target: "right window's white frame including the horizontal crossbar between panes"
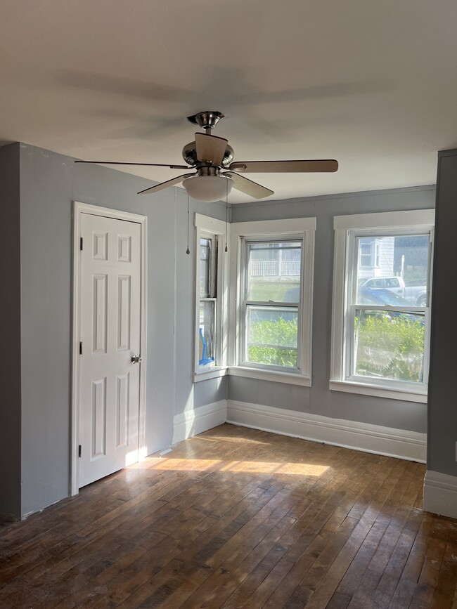
[[(430, 286), (432, 280), (432, 254), (434, 239), (434, 209), (414, 211), (387, 211), (376, 214), (335, 216), (335, 251), (333, 264), (332, 350), (330, 361), (330, 389), (349, 391), (378, 397), (413, 402), (427, 401), (427, 376), (430, 354)], [(430, 235), (428, 256), (428, 292), (425, 307), (408, 307), (425, 310), (424, 382), (373, 379), (351, 374), (354, 332), (354, 304), (349, 299), (356, 281), (356, 238), (374, 235)], [(363, 308), (360, 306), (359, 308)], [(366, 306), (371, 309), (403, 310), (392, 306)]]

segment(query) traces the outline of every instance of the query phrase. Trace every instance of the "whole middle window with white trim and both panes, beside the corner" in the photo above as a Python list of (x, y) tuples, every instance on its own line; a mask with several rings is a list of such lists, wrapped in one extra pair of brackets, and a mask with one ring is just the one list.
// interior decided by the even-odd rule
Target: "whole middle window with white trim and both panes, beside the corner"
[(311, 384), (315, 218), (231, 225), (229, 374)]

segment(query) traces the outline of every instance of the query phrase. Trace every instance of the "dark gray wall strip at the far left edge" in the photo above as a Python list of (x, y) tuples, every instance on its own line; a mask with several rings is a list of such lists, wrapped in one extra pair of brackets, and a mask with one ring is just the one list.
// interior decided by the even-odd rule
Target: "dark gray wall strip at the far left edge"
[(19, 145), (0, 148), (1, 240), (3, 296), (0, 320), (4, 347), (0, 352), (0, 512), (20, 513), (20, 247)]

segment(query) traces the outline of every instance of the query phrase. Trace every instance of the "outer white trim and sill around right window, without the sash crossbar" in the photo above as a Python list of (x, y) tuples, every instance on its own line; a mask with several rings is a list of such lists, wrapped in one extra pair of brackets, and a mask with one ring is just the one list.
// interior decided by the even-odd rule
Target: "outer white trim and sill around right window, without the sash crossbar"
[[(387, 381), (382, 379), (376, 383), (372, 379), (365, 382), (354, 382), (345, 378), (345, 358), (347, 337), (345, 335), (345, 317), (347, 307), (347, 270), (348, 270), (348, 232), (350, 230), (366, 230), (378, 234), (382, 230), (392, 230), (399, 233), (417, 233), (430, 231), (430, 255), (432, 256), (433, 228), (435, 209), (417, 209), (411, 211), (386, 211), (375, 214), (357, 214), (335, 216), (335, 251), (333, 261), (333, 301), (332, 301), (332, 348), (330, 355), (330, 389), (375, 395), (394, 400), (412, 402), (427, 402), (427, 384), (410, 384), (407, 381)], [(429, 273), (432, 273), (432, 260), (429, 263)], [(429, 299), (430, 300), (430, 299)], [(427, 313), (426, 313), (427, 315)], [(430, 351), (430, 302), (426, 321), (425, 353)]]

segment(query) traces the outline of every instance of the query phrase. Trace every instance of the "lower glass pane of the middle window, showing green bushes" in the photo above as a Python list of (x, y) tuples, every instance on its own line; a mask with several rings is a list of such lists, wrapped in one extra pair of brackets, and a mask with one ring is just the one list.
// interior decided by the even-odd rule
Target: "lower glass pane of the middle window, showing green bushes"
[(297, 368), (298, 309), (247, 306), (248, 362)]

